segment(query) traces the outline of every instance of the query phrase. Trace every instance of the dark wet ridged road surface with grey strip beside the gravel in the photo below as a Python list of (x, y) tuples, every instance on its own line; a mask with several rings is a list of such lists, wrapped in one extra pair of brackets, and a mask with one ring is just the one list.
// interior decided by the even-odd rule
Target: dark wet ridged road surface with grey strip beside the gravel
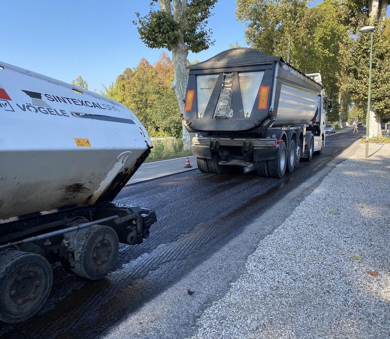
[(282, 179), (190, 171), (125, 187), (117, 202), (157, 213), (150, 238), (138, 246), (121, 245), (114, 270), (99, 281), (83, 280), (54, 265), (53, 289), (44, 308), (23, 324), (0, 325), (0, 335), (194, 334), (202, 311), (243, 273), (258, 242), (354, 153), (354, 146), (348, 147), (363, 133), (328, 138), (322, 155)]

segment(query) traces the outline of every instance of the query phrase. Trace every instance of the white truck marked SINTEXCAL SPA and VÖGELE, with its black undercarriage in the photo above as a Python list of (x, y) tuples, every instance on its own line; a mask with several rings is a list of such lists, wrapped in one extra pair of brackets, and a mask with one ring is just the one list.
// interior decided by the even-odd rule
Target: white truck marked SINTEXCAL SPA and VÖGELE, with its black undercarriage
[(51, 263), (101, 279), (149, 236), (155, 212), (113, 200), (151, 148), (122, 104), (0, 62), (0, 321), (39, 311)]

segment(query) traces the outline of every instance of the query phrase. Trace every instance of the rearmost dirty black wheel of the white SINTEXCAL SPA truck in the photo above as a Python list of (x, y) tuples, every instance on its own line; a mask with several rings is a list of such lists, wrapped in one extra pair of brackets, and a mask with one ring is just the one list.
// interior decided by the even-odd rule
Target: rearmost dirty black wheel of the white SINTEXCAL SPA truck
[(69, 269), (76, 275), (98, 280), (112, 269), (118, 256), (119, 240), (114, 229), (94, 225), (86, 232), (77, 233), (75, 249), (68, 255)]

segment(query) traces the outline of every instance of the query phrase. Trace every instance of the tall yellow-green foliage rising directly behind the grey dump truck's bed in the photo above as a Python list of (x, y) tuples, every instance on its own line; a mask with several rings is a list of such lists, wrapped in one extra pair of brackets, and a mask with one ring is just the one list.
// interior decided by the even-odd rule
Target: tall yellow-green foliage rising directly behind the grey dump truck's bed
[(337, 0), (307, 6), (306, 0), (237, 0), (238, 20), (246, 24), (247, 43), (279, 55), (305, 73), (320, 72), (333, 101), (328, 119), (339, 119), (340, 45), (347, 34)]

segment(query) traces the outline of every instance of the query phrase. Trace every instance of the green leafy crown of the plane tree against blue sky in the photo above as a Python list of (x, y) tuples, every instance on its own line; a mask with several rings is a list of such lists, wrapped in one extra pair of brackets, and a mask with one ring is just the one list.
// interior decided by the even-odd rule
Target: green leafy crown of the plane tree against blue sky
[[(181, 1), (175, 1), (181, 8)], [(147, 47), (172, 50), (173, 46), (183, 42), (189, 50), (197, 53), (214, 44), (212, 31), (207, 29), (207, 19), (212, 15), (210, 10), (216, 0), (192, 0), (183, 13), (184, 18), (175, 17), (171, 8), (156, 9), (156, 2), (151, 2), (151, 9), (145, 16), (136, 13), (137, 21), (133, 22)], [(168, 3), (171, 6), (172, 1)]]

